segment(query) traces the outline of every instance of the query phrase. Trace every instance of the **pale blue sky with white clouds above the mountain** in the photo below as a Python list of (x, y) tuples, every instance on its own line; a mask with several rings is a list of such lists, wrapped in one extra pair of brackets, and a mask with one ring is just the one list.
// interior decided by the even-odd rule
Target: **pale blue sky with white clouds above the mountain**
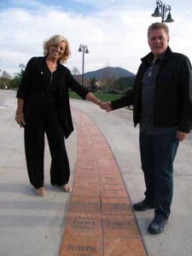
[[(192, 0), (161, 2), (172, 7), (170, 47), (192, 62)], [(72, 55), (65, 66), (82, 73), (102, 67), (122, 67), (137, 73), (141, 58), (147, 55), (148, 26), (154, 18), (154, 0), (1, 0), (0, 69), (14, 76), (20, 63), (26, 66), (32, 56), (43, 55), (44, 40), (61, 34), (69, 41)], [(167, 15), (167, 13), (166, 13)]]

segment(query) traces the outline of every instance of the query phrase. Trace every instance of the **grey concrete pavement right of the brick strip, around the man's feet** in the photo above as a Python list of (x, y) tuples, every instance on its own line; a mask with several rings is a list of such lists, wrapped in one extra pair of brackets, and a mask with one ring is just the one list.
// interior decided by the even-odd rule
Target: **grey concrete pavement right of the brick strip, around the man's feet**
[[(138, 148), (139, 129), (132, 124), (132, 113), (119, 109), (102, 113), (89, 102), (73, 102), (100, 128), (112, 149), (124, 178), (132, 204), (143, 200), (144, 180)], [(148, 224), (154, 211), (135, 212), (137, 223), (149, 256), (192, 255), (192, 133), (180, 143), (174, 165), (174, 195), (172, 214), (163, 234), (150, 235)]]

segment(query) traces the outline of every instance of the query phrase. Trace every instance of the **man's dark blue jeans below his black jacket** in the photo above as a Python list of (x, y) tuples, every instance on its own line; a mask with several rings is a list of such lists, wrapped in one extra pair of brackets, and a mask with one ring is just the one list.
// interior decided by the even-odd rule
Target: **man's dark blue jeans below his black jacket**
[(169, 218), (173, 192), (173, 160), (177, 153), (177, 130), (149, 135), (140, 131), (140, 154), (148, 201), (154, 202), (155, 218)]

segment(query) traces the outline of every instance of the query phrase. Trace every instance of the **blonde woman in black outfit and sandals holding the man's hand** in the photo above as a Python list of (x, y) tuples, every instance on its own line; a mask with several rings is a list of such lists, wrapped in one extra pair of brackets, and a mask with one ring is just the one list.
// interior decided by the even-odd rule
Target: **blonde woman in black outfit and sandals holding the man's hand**
[(70, 169), (64, 137), (73, 131), (68, 90), (71, 88), (83, 99), (103, 107), (96, 96), (79, 84), (61, 65), (70, 55), (67, 39), (55, 35), (44, 42), (44, 56), (32, 57), (17, 91), (15, 120), (24, 127), (26, 166), (36, 195), (44, 196), (44, 133), (51, 154), (50, 183), (65, 192)]

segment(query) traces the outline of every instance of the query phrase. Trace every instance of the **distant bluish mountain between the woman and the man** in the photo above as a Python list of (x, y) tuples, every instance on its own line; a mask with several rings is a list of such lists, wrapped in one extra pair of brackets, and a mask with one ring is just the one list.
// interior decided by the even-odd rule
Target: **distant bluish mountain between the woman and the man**
[[(77, 77), (81, 77), (78, 75)], [(125, 77), (135, 77), (134, 73), (129, 72), (128, 70), (122, 67), (103, 67), (96, 71), (91, 71), (84, 73), (84, 79), (96, 78), (103, 79), (103, 78), (125, 78)]]

